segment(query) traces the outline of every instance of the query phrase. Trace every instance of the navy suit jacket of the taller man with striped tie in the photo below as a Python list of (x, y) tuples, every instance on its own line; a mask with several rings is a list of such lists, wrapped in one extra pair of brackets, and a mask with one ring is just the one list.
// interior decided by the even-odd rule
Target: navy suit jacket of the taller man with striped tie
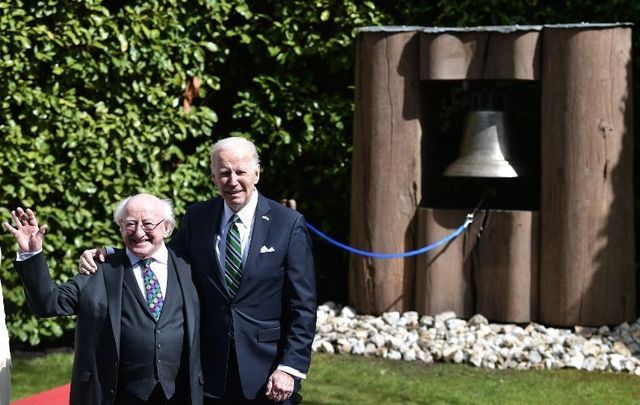
[(302, 215), (259, 195), (242, 281), (232, 298), (215, 252), (222, 212), (220, 197), (191, 205), (170, 246), (190, 261), (200, 293), (205, 393), (224, 394), (233, 319), (242, 389), (252, 399), (279, 364), (309, 369), (316, 328), (311, 239)]

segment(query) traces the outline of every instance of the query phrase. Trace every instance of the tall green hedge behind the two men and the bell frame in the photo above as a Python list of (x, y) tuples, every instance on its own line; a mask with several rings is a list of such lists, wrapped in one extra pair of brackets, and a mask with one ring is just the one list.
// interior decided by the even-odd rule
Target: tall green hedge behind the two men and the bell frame
[[(110, 217), (122, 197), (171, 198), (178, 216), (211, 197), (208, 149), (241, 135), (260, 149), (260, 191), (296, 198), (310, 222), (347, 240), (356, 29), (634, 21), (640, 7), (546, 3), (0, 1), (0, 218), (35, 207), (64, 280), (83, 249), (119, 244)], [(192, 76), (202, 88), (184, 113)], [(11, 258), (8, 233), (0, 246)], [(314, 249), (320, 299), (345, 300), (346, 254)], [(30, 315), (10, 260), (0, 277), (14, 340), (36, 345), (73, 328)]]

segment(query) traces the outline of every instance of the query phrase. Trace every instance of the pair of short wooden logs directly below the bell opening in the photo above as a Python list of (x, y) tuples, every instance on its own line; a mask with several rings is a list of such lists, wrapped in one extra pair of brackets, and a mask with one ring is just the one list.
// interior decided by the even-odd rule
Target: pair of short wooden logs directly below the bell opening
[[(463, 210), (418, 209), (418, 245), (451, 234)], [(530, 322), (538, 309), (538, 214), (484, 210), (464, 234), (418, 256), (416, 310), (480, 313), (497, 322)]]

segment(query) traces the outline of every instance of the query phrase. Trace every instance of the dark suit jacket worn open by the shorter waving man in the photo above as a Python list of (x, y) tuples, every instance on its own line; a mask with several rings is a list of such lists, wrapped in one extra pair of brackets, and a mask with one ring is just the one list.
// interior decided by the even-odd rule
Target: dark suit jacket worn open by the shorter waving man
[[(124, 250), (117, 250), (94, 275), (76, 275), (56, 285), (44, 254), (14, 262), (36, 316), (77, 315), (71, 404), (112, 404), (118, 378), (120, 317), (124, 270), (131, 267)], [(176, 269), (184, 297), (192, 404), (202, 404), (198, 295), (189, 265), (169, 249), (169, 270)]]

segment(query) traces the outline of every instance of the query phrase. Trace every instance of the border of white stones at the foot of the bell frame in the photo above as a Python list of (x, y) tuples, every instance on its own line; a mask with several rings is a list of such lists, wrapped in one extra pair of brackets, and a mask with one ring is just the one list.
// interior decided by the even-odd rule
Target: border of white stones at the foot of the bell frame
[(453, 312), (358, 315), (333, 302), (320, 305), (317, 314), (315, 352), (489, 369), (574, 368), (640, 375), (640, 319), (613, 329), (570, 330), (537, 323), (491, 324), (479, 314), (466, 321)]

